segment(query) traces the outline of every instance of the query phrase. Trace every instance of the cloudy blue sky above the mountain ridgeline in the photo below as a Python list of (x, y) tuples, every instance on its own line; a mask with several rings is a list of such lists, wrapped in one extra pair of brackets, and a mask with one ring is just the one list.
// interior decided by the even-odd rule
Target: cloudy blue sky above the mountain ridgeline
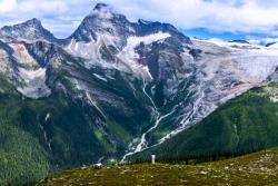
[(169, 22), (190, 37), (278, 38), (278, 0), (0, 0), (0, 27), (38, 18), (64, 38), (98, 2), (130, 21)]

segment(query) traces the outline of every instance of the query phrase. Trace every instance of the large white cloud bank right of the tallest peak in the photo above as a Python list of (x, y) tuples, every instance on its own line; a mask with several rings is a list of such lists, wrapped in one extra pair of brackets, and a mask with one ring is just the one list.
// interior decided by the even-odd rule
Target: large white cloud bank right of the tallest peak
[[(113, 3), (117, 0), (107, 0)], [(175, 23), (183, 29), (208, 28), (217, 31), (267, 32), (278, 25), (278, 6), (264, 7), (256, 0), (121, 0), (116, 7), (129, 14), (145, 19)], [(266, 1), (268, 2), (268, 1)], [(267, 4), (267, 3), (266, 3)], [(127, 9), (129, 7), (129, 9)]]

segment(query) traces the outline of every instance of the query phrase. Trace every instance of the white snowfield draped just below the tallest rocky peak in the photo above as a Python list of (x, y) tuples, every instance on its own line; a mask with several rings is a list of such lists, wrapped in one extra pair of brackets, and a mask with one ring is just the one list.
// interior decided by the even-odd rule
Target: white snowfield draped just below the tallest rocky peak
[[(148, 67), (139, 63), (139, 55), (136, 52), (136, 47), (140, 43), (150, 45), (156, 41), (171, 37), (170, 33), (157, 32), (145, 37), (129, 37), (126, 47), (117, 55), (117, 62), (109, 62), (101, 58), (100, 49), (103, 46), (117, 46), (116, 36), (101, 33), (97, 41), (77, 42), (75, 39), (64, 48), (68, 52), (76, 57), (85, 58), (85, 66), (91, 68), (99, 66), (106, 69), (118, 69), (122, 72), (132, 72), (143, 79), (152, 79)], [(117, 47), (116, 47), (117, 48)]]

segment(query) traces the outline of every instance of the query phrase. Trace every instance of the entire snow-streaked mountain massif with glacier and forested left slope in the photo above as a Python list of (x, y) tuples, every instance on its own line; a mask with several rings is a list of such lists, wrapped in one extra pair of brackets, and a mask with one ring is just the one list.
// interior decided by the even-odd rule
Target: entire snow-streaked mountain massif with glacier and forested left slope
[(33, 19), (0, 40), (0, 185), (125, 160), (277, 77), (275, 48), (190, 39), (103, 3), (66, 39)]

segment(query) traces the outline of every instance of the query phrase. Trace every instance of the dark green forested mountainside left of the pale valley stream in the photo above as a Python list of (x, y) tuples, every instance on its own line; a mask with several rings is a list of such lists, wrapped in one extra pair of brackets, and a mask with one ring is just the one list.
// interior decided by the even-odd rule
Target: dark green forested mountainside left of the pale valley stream
[[(103, 94), (132, 95), (127, 88), (125, 92), (117, 91), (118, 86), (126, 86), (123, 80), (115, 82), (115, 89), (110, 90), (103, 87), (105, 82), (89, 75), (86, 77), (96, 84), (95, 87), (102, 86)], [(103, 118), (99, 110), (76, 97), (77, 90), (67, 79), (56, 75), (52, 78), (52, 81), (62, 82), (67, 92), (52, 84), (50, 97), (34, 100), (22, 97), (0, 74), (1, 186), (40, 180), (58, 169), (90, 165), (100, 157), (121, 157), (129, 140), (150, 125), (146, 123), (149, 115), (143, 101), (129, 99), (127, 105), (136, 106), (129, 110), (132, 114), (129, 118), (122, 116), (126, 115), (123, 110), (117, 112), (118, 107), (100, 105), (107, 114)]]

